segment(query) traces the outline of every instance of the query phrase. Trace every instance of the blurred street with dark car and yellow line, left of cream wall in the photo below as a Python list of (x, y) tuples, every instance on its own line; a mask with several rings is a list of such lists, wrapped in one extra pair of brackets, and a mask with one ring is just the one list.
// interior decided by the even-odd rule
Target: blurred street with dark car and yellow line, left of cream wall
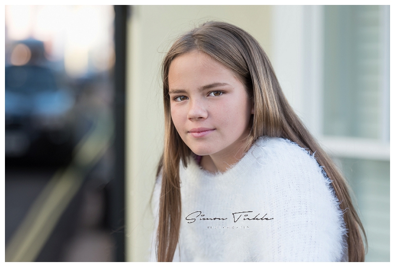
[(5, 6), (5, 261), (124, 261), (125, 10)]

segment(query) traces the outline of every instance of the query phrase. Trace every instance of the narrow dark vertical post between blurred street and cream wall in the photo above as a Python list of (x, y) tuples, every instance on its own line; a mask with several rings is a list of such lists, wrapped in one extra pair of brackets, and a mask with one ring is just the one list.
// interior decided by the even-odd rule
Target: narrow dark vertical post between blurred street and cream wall
[(116, 240), (117, 262), (125, 261), (124, 231), (124, 180), (125, 180), (125, 67), (126, 67), (126, 20), (127, 5), (115, 5), (115, 175), (110, 182), (110, 227)]

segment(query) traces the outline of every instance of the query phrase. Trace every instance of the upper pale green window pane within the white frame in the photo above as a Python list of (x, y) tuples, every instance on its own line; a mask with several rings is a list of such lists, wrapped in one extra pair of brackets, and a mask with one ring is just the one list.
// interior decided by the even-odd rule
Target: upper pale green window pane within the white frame
[(324, 7), (324, 134), (381, 138), (381, 8)]

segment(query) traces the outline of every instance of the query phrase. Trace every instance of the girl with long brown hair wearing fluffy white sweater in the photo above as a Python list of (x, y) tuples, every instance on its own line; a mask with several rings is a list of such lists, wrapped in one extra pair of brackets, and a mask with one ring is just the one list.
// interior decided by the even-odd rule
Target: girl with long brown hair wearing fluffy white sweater
[(162, 71), (151, 260), (364, 260), (348, 185), (253, 37), (207, 22), (175, 41)]

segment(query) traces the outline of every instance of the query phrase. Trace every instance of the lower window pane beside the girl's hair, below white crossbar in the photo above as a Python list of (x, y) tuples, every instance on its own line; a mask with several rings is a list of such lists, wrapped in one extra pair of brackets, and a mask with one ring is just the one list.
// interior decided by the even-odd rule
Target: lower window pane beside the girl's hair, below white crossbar
[(355, 193), (366, 231), (366, 262), (390, 261), (390, 161), (338, 159)]

